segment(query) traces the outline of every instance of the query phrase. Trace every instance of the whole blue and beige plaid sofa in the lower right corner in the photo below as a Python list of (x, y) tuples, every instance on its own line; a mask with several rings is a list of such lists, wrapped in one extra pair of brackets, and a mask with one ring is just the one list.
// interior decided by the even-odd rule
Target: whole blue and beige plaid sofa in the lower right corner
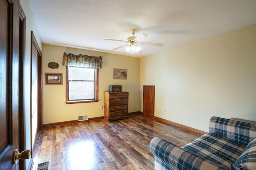
[(256, 170), (256, 125), (212, 117), (210, 130), (181, 148), (155, 137), (155, 170)]

